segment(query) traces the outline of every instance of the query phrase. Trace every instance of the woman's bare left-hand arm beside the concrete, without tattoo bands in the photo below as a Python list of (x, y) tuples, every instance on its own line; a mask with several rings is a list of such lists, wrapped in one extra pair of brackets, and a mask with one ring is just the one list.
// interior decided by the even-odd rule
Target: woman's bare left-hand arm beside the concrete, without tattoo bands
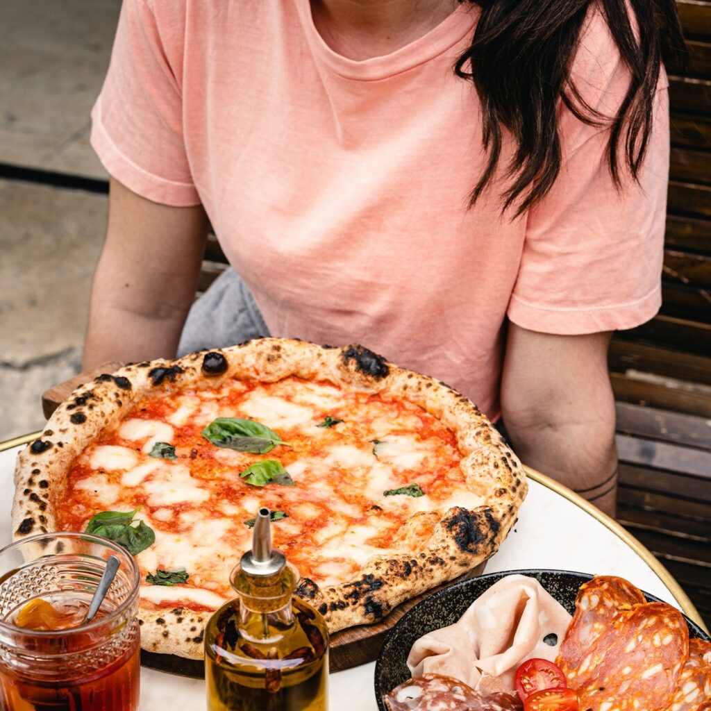
[(201, 205), (159, 205), (112, 178), (92, 284), (83, 367), (172, 358), (195, 298), (208, 220)]

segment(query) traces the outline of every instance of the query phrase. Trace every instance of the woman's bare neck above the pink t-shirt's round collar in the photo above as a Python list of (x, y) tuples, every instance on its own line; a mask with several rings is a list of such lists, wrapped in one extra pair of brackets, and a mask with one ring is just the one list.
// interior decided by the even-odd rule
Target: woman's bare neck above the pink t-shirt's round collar
[(449, 16), (457, 0), (310, 0), (316, 30), (336, 53), (364, 60), (395, 52)]

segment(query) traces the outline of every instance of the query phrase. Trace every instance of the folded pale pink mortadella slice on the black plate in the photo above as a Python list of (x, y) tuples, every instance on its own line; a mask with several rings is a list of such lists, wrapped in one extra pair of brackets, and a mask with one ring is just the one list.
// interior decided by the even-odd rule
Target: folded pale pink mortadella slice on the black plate
[(553, 661), (570, 614), (538, 580), (509, 575), (477, 598), (456, 624), (419, 638), (407, 665), (413, 676), (451, 676), (480, 691), (513, 692), (516, 668)]

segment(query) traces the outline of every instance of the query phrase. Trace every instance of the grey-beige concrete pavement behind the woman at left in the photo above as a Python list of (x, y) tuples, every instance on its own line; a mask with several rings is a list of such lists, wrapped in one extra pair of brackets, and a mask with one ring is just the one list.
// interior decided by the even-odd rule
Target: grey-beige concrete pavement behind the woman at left
[[(0, 167), (106, 178), (88, 144), (120, 0), (0, 2)], [(1, 174), (1, 173), (0, 173)], [(0, 178), (0, 440), (80, 364), (105, 196)]]

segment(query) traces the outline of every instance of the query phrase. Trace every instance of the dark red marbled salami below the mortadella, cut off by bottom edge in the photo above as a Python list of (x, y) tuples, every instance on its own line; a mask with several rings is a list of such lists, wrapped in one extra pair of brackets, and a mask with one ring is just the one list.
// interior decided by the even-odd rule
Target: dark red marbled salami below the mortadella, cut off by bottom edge
[(481, 694), (458, 679), (424, 674), (408, 679), (386, 697), (390, 711), (522, 711), (510, 694)]

